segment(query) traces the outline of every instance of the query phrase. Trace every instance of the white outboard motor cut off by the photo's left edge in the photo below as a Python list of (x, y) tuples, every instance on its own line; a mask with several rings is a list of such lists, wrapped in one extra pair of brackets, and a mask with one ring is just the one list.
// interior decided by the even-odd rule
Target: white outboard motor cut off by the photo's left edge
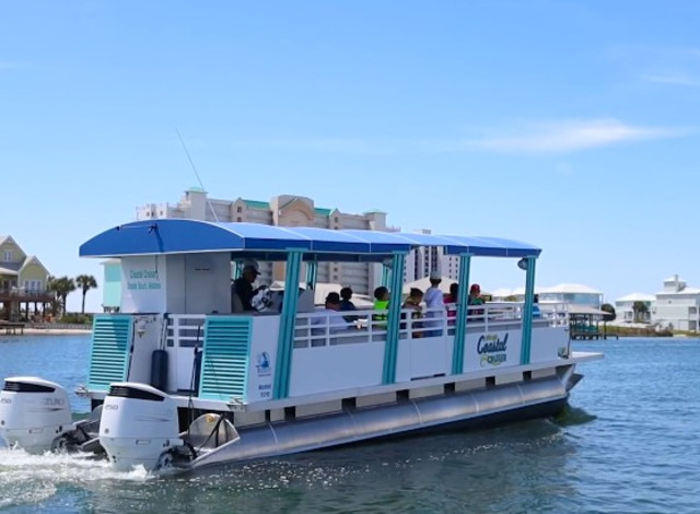
[(36, 376), (4, 379), (0, 393), (0, 440), (4, 445), (43, 453), (72, 428), (70, 401), (61, 386)]

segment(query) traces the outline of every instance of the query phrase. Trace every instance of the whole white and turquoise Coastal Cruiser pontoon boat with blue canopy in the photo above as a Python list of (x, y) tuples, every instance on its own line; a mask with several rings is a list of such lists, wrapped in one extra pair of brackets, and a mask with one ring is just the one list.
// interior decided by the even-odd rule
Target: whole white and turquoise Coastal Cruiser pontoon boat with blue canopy
[[(456, 302), (425, 317), (401, 308), (407, 255), (459, 257)], [(495, 237), (278, 227), (164, 219), (103, 232), (83, 257), (119, 258), (121, 313), (95, 316), (89, 420), (71, 422), (66, 392), (7, 377), (0, 440), (27, 451), (104, 453), (116, 469), (197, 469), (363, 440), (546, 417), (581, 378), (565, 318), (533, 313), (540, 249)], [(467, 303), (472, 258), (516, 259), (525, 301)], [(237, 311), (243, 262), (284, 268), (264, 312)], [(316, 311), (318, 261), (386, 269), (385, 309), (343, 318)], [(307, 289), (300, 289), (302, 271)], [(304, 282), (304, 280), (301, 280)], [(310, 291), (311, 290), (311, 291)], [(347, 313), (343, 313), (347, 314)]]

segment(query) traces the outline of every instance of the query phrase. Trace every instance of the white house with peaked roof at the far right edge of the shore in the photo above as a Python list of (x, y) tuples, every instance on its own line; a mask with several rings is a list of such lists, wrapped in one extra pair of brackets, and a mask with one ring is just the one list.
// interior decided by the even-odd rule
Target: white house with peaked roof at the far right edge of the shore
[(652, 323), (673, 326), (676, 330), (700, 327), (700, 289), (688, 288), (677, 274), (664, 280), (663, 291), (652, 303)]

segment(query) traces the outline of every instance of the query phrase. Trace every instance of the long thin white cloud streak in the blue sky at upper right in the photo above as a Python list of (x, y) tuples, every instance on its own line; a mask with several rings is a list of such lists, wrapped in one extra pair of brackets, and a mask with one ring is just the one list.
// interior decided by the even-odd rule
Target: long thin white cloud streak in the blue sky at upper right
[(677, 131), (633, 127), (617, 119), (594, 119), (540, 124), (521, 133), (467, 140), (464, 147), (503, 152), (571, 152), (674, 135)]

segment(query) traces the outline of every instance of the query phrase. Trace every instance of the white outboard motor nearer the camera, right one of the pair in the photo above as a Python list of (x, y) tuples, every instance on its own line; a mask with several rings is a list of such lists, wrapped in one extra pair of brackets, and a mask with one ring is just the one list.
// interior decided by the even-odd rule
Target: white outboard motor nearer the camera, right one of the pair
[(175, 401), (150, 385), (112, 384), (102, 407), (100, 444), (117, 470), (155, 469), (163, 453), (183, 445)]

